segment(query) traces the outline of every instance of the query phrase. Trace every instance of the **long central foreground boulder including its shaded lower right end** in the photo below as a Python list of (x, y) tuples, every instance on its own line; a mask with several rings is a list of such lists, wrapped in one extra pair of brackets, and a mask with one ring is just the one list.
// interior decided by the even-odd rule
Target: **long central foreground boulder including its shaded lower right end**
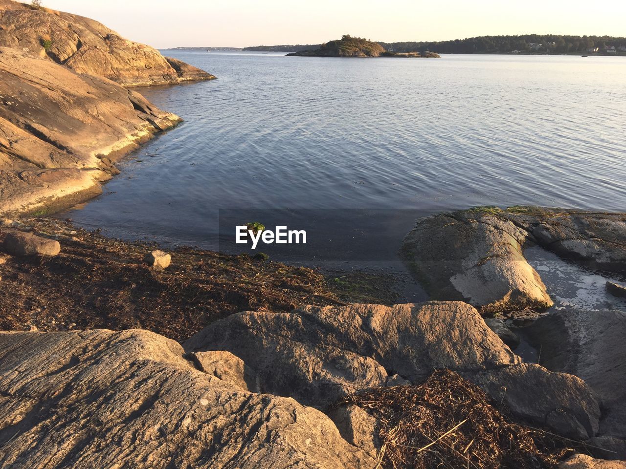
[(466, 303), (244, 312), (212, 323), (183, 346), (189, 353), (228, 350), (254, 371), (262, 391), (319, 408), (390, 385), (396, 374), (418, 383), (448, 369), (559, 434), (585, 439), (598, 429), (600, 408), (582, 380), (521, 363)]

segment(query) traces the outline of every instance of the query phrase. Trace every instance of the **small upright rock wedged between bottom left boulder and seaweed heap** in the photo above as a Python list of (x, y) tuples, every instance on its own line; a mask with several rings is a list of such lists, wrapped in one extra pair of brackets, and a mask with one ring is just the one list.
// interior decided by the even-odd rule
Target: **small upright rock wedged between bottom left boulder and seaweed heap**
[(344, 440), (376, 458), (381, 450), (376, 418), (356, 405), (340, 405), (329, 416)]

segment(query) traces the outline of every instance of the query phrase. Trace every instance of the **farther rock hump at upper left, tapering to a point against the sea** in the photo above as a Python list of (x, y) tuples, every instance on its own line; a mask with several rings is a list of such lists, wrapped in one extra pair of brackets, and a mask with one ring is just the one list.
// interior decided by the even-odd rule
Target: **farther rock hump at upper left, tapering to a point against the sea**
[(122, 38), (82, 16), (0, 0), (0, 46), (62, 64), (123, 86), (208, 80), (212, 74)]

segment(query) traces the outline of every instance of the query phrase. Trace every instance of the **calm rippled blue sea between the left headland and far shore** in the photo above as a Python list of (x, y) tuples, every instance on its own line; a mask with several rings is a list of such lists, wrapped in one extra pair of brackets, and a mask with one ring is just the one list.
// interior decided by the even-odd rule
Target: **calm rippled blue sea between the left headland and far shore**
[[(334, 247), (361, 236), (394, 252), (416, 216), (445, 209), (626, 211), (626, 58), (166, 54), (219, 79), (140, 90), (185, 122), (126, 159), (76, 223), (215, 249), (218, 209), (287, 209), (270, 226), (359, 208), (324, 220)], [(377, 238), (383, 225), (394, 235)]]

